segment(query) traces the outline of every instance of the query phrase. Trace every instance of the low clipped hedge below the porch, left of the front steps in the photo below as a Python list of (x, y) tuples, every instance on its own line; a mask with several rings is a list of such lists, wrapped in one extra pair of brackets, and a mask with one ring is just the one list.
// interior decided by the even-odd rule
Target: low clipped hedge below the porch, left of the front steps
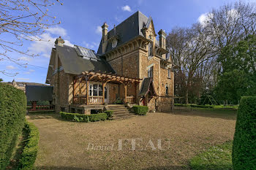
[(80, 115), (78, 113), (67, 113), (60, 112), (61, 117), (65, 120), (70, 120), (73, 122), (96, 122), (99, 120), (106, 120), (108, 118), (106, 113), (98, 113), (93, 115)]

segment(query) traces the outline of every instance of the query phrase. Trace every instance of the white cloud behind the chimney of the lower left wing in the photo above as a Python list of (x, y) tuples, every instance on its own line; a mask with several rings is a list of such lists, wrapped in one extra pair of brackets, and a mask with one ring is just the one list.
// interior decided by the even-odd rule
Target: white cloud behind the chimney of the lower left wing
[[(53, 28), (48, 28), (44, 34), (39, 36), (41, 41), (35, 41), (32, 42), (29, 51), (32, 54), (35, 55), (41, 55), (45, 58), (50, 58), (50, 52), (52, 47), (54, 47), (54, 42), (56, 41), (57, 37), (59, 36), (54, 36), (53, 34), (58, 34), (61, 36), (67, 36), (67, 31), (64, 28), (61, 27), (53, 27)], [(64, 39), (64, 45), (69, 45), (73, 46), (69, 40)]]

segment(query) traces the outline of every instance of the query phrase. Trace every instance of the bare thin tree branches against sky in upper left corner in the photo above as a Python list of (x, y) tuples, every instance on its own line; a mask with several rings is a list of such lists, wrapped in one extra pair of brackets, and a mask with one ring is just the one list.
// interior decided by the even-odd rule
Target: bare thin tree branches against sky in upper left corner
[[(59, 0), (56, 2), (61, 4)], [(19, 50), (19, 47), (24, 41), (43, 41), (39, 35), (49, 26), (60, 23), (56, 23), (56, 17), (48, 12), (54, 4), (51, 0), (0, 0), (0, 61), (12, 61), (26, 67), (19, 59), (13, 58), (12, 53), (35, 56), (29, 50)], [(8, 76), (18, 74), (0, 72)]]

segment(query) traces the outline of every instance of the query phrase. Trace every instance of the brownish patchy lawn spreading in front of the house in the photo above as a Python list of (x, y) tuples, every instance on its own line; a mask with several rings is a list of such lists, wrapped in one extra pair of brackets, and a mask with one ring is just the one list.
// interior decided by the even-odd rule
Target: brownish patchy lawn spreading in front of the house
[(54, 114), (27, 119), (39, 128), (37, 169), (190, 169), (196, 155), (233, 139), (236, 111), (149, 113), (96, 123), (68, 122)]

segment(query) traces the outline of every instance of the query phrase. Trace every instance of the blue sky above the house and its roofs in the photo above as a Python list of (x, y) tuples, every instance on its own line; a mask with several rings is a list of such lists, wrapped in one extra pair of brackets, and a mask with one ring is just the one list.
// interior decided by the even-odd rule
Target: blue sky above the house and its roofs
[[(249, 0), (247, 0), (249, 1)], [(187, 27), (196, 23), (203, 14), (210, 12), (223, 4), (235, 2), (233, 0), (114, 0), (114, 1), (63, 1), (64, 5), (56, 4), (50, 8), (52, 15), (61, 24), (45, 31), (42, 39), (50, 42), (25, 42), (20, 50), (30, 50), (39, 54), (35, 58), (10, 53), (12, 58), (20, 58), (20, 62), (29, 63), (26, 68), (10, 61), (0, 61), (0, 70), (16, 73), (15, 77), (7, 77), (0, 73), (4, 82), (16, 81), (45, 83), (50, 51), (56, 37), (62, 36), (67, 45), (80, 45), (97, 52), (101, 39), (101, 27), (108, 23), (109, 30), (114, 24), (118, 25), (134, 12), (140, 10), (147, 17), (151, 16), (156, 31), (164, 29), (169, 32), (176, 26)], [(3, 36), (3, 35), (1, 35)], [(7, 39), (9, 37), (6, 37)]]

